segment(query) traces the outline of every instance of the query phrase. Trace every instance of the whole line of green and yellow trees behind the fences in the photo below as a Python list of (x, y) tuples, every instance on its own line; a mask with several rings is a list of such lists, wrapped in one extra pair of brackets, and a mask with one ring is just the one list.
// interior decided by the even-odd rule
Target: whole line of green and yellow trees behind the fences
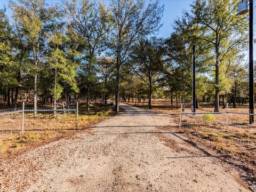
[[(147, 102), (191, 101), (192, 47), (196, 45), (196, 98), (226, 102), (248, 98), (248, 19), (238, 0), (203, 1), (173, 23), (169, 38), (156, 37), (159, 1), (10, 1), (0, 11), (0, 100), (13, 103), (92, 98)], [(171, 29), (170, 29), (171, 31)]]

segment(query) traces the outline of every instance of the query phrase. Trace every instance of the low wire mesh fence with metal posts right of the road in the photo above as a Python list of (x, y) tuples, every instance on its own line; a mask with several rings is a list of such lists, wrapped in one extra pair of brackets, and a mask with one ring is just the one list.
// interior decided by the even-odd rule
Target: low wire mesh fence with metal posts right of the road
[(197, 111), (192, 113), (188, 108), (181, 107), (180, 129), (210, 127), (213, 129), (255, 129), (255, 124), (250, 124), (253, 113), (243, 113), (227, 108), (220, 112)]

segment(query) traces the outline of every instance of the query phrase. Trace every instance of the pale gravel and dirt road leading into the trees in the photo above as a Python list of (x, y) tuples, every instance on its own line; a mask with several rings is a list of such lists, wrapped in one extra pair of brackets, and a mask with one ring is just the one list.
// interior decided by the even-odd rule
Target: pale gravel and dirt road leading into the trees
[(171, 116), (121, 107), (125, 112), (90, 134), (51, 142), (4, 165), (9, 178), (2, 179), (10, 181), (2, 190), (247, 191), (231, 167), (163, 131), (175, 126)]

